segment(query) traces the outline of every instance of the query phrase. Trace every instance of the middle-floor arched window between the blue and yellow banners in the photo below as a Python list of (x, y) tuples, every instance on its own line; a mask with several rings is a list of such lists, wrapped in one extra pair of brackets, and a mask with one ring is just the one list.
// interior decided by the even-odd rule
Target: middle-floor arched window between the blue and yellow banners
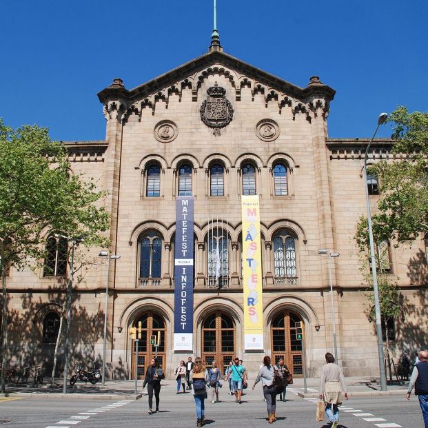
[(207, 235), (207, 272), (210, 287), (229, 286), (229, 237), (221, 227), (213, 227)]

